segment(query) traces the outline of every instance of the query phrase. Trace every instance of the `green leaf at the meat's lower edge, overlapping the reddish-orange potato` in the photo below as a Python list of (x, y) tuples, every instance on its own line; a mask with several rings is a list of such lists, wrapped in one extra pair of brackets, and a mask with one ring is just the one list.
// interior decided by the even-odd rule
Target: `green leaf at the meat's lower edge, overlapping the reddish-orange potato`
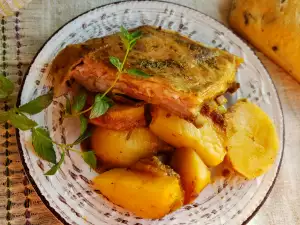
[(90, 114), (90, 119), (102, 116), (112, 106), (112, 100), (108, 97), (102, 97), (101, 94), (96, 95), (95, 102)]

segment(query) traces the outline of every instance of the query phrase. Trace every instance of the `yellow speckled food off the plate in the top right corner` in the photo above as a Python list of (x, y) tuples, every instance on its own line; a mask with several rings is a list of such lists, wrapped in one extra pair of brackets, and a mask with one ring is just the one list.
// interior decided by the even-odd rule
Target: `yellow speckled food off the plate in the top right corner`
[(299, 13), (299, 0), (234, 0), (229, 23), (300, 81)]

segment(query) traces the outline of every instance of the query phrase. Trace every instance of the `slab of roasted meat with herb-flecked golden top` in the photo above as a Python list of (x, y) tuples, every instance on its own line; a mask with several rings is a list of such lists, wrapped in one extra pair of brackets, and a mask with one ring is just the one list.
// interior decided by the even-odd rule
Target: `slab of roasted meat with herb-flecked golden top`
[[(141, 31), (142, 37), (130, 51), (124, 67), (139, 69), (151, 77), (123, 72), (113, 90), (159, 104), (183, 117), (193, 117), (199, 113), (203, 103), (235, 84), (241, 58), (175, 32), (151, 26), (135, 30)], [(113, 34), (78, 46), (84, 49), (84, 56), (68, 69), (67, 75), (56, 78), (59, 80), (56, 83), (63, 84), (73, 78), (92, 92), (105, 92), (114, 83), (117, 74), (109, 57), (123, 59), (125, 55), (120, 36)], [(64, 88), (56, 91), (56, 95), (62, 94), (61, 90)]]

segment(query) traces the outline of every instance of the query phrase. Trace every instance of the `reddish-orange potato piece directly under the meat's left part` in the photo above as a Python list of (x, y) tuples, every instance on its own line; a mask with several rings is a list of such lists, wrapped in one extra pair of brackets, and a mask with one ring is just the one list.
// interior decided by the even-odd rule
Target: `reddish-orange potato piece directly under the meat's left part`
[(111, 130), (130, 130), (145, 127), (144, 105), (114, 105), (104, 115), (89, 120), (90, 123)]

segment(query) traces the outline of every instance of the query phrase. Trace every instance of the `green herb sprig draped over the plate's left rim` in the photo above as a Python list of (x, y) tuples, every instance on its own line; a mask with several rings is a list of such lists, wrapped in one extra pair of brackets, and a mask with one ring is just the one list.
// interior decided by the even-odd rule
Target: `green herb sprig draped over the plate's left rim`
[[(0, 75), (0, 99), (6, 100), (14, 90), (13, 83), (7, 79), (5, 76)], [(84, 107), (82, 104), (82, 101), (86, 100), (87, 95), (83, 94), (82, 96), (78, 96), (79, 100), (77, 100), (77, 105), (73, 105), (72, 110), (74, 111), (80, 111)], [(6, 122), (10, 121), (10, 123), (20, 129), (20, 130), (31, 130), (32, 131), (32, 144), (34, 147), (34, 151), (37, 153), (38, 156), (40, 156), (42, 159), (54, 164), (52, 168), (45, 173), (45, 175), (54, 175), (60, 166), (64, 162), (65, 153), (67, 151), (73, 151), (81, 155), (83, 160), (92, 168), (96, 167), (97, 160), (96, 156), (93, 151), (85, 151), (81, 152), (79, 150), (73, 149), (74, 145), (80, 144), (82, 141), (84, 141), (86, 138), (91, 136), (91, 132), (87, 130), (87, 119), (85, 117), (80, 116), (81, 126), (80, 126), (80, 136), (74, 143), (72, 144), (58, 144), (54, 142), (49, 132), (41, 127), (37, 127), (38, 124), (29, 119), (26, 114), (34, 115), (37, 113), (40, 113), (45, 108), (47, 108), (51, 103), (53, 99), (53, 94), (50, 92), (45, 95), (41, 95), (32, 101), (20, 106), (19, 108), (14, 107), (10, 109), (9, 111), (1, 111), (0, 112), (0, 122)], [(67, 105), (68, 108), (68, 105)], [(69, 111), (71, 111), (71, 108), (68, 108)], [(61, 158), (58, 162), (56, 162), (56, 155), (54, 146), (60, 148), (62, 151)]]

